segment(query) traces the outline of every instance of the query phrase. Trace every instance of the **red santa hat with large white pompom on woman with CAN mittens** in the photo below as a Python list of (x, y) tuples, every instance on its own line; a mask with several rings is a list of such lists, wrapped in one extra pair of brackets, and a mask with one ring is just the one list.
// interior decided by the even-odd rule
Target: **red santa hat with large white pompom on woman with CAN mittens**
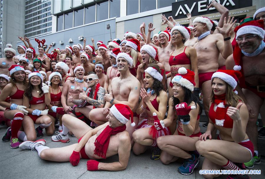
[(178, 83), (180, 86), (183, 86), (191, 91), (194, 90), (195, 87), (195, 81), (194, 81), (194, 72), (186, 69), (184, 67), (180, 67), (178, 69), (178, 74), (174, 76), (174, 78), (171, 80), (172, 83)]

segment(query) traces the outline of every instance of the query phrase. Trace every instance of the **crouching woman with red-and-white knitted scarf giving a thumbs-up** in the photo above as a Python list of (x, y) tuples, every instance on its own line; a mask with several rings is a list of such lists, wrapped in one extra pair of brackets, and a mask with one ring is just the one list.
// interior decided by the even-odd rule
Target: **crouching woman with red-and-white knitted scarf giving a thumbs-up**
[[(237, 85), (239, 71), (218, 70), (212, 76), (212, 94), (207, 131), (196, 142), (196, 149), (205, 157), (202, 170), (241, 170), (242, 163), (248, 162), (253, 154), (253, 144), (246, 135), (249, 113), (242, 99), (233, 92)], [(220, 131), (217, 140), (211, 132)], [(209, 138), (206, 140), (206, 138)], [(234, 163), (233, 163), (234, 162)], [(218, 175), (203, 175), (216, 178)], [(240, 175), (238, 175), (240, 176)], [(238, 178), (229, 175), (229, 179)], [(241, 175), (241, 177), (243, 177)], [(249, 178), (244, 175), (244, 178)]]

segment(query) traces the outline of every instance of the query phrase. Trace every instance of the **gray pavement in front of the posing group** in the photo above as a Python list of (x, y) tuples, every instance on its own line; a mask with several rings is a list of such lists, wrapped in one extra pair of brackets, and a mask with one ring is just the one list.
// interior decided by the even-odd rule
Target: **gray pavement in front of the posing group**
[[(0, 126), (0, 136), (2, 137), (6, 131), (6, 126)], [(56, 129), (57, 130), (57, 129)], [(60, 143), (52, 142), (51, 137), (44, 134), (44, 139), (47, 141), (46, 146), (50, 148), (63, 147), (77, 143), (77, 139), (70, 136), (70, 142)], [(176, 178), (176, 179), (203, 179), (199, 174), (203, 157), (200, 158), (200, 165), (191, 175), (181, 175), (177, 168), (181, 165), (180, 162), (163, 165), (160, 160), (150, 160), (150, 150), (144, 154), (136, 156), (131, 152), (129, 164), (123, 171), (87, 171), (87, 160), (81, 159), (80, 163), (73, 167), (69, 162), (57, 163), (42, 160), (39, 158), (37, 151), (11, 149), (9, 142), (0, 142), (0, 178), (15, 179), (15, 178)], [(104, 160), (106, 163), (118, 160), (118, 155), (114, 155)], [(103, 161), (103, 160), (101, 160)], [(261, 170), (261, 175), (250, 175), (252, 179), (265, 178), (265, 160), (263, 159), (260, 165), (255, 165), (254, 170)], [(219, 177), (225, 179), (227, 175)]]

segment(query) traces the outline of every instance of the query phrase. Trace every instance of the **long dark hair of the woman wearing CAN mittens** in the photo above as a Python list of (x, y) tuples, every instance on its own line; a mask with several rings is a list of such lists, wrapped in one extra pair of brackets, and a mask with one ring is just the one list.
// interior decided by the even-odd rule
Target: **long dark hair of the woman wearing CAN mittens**
[[(185, 92), (185, 96), (184, 96), (184, 101), (183, 102), (186, 102), (189, 105), (193, 101), (195, 103), (196, 108), (197, 108), (197, 105), (200, 107), (199, 114), (201, 115), (203, 106), (199, 102), (199, 99), (191, 92), (191, 90), (189, 90), (188, 88), (186, 88), (184, 86), (181, 86), (181, 87), (182, 87), (182, 89)], [(174, 106), (176, 106), (177, 104), (180, 103), (178, 98), (175, 98), (174, 96), (172, 96), (172, 99), (173, 99)]]

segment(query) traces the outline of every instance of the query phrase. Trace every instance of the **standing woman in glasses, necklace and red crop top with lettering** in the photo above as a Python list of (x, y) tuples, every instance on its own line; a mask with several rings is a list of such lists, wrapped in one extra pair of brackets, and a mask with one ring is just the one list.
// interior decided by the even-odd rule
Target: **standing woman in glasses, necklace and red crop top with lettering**
[[(184, 43), (190, 38), (190, 29), (184, 26), (174, 26), (171, 30), (172, 43), (176, 46), (175, 50), (170, 54), (169, 65), (171, 72), (171, 80), (178, 73), (180, 67), (192, 70), (195, 73), (195, 90), (199, 91), (199, 77), (198, 77), (198, 59), (195, 48), (192, 46), (185, 46)], [(169, 84), (168, 96), (173, 96), (172, 82)], [(196, 95), (199, 95), (196, 94)]]

